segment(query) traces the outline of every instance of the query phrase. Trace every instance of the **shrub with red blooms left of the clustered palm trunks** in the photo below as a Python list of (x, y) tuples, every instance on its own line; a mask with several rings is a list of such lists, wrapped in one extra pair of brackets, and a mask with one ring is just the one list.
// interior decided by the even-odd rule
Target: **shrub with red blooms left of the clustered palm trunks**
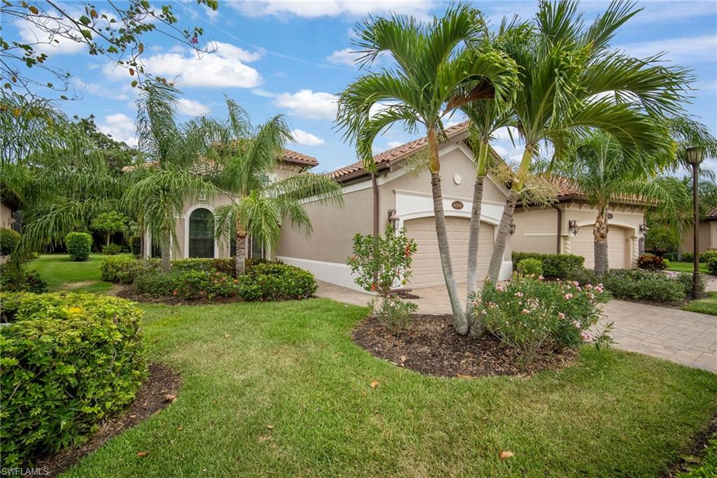
[(391, 297), (391, 290), (399, 284), (405, 285), (411, 277), (416, 247), (416, 242), (406, 236), (406, 229), (395, 231), (390, 224), (386, 225), (383, 236), (353, 236), (353, 257), (348, 259), (348, 267), (356, 276), (353, 282), (368, 292), (378, 292), (381, 304), (376, 307), (376, 303), (371, 302), (371, 308), (376, 317), (392, 329), (406, 327), (412, 312), (418, 308), (412, 302)]

